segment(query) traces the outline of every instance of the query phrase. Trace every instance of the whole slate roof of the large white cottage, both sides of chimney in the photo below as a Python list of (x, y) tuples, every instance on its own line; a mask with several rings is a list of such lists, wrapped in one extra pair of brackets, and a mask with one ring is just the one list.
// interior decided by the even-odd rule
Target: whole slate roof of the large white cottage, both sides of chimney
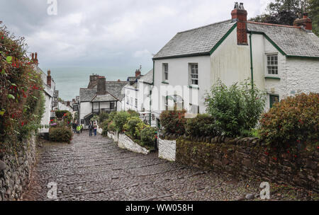
[[(177, 33), (153, 59), (208, 55), (234, 24), (228, 20)], [(319, 38), (301, 28), (247, 22), (247, 30), (264, 33), (288, 56), (319, 57)]]

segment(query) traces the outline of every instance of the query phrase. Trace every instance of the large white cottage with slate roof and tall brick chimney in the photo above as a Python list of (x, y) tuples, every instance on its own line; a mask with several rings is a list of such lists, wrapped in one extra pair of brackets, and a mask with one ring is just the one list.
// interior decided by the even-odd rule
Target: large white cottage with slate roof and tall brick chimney
[(319, 38), (311, 29), (306, 13), (294, 26), (254, 23), (236, 4), (228, 21), (177, 33), (153, 57), (152, 111), (206, 112), (205, 94), (218, 79), (228, 86), (252, 79), (267, 91), (265, 108), (299, 91), (318, 93)]

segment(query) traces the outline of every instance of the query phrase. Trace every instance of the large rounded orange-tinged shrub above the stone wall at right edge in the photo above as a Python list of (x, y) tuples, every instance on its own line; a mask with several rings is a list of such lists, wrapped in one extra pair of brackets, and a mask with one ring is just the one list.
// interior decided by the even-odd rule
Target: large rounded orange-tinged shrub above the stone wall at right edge
[(307, 145), (318, 149), (318, 112), (318, 93), (288, 97), (262, 115), (259, 135), (272, 149), (297, 151)]

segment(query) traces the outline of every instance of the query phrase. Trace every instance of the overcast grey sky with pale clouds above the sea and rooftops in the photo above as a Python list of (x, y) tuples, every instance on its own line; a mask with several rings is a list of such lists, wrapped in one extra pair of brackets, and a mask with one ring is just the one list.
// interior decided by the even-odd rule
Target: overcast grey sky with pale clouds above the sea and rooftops
[[(248, 17), (269, 0), (243, 0)], [(85, 66), (145, 70), (152, 54), (177, 32), (230, 18), (234, 0), (57, 0), (57, 16), (47, 0), (1, 0), (0, 21), (26, 37), (40, 66)], [(128, 71), (129, 72), (129, 71)]]

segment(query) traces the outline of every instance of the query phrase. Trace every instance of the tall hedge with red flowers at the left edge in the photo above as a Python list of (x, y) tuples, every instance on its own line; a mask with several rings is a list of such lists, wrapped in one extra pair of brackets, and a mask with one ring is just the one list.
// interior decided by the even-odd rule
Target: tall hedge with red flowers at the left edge
[(0, 156), (41, 128), (43, 86), (27, 47), (23, 37), (15, 37), (0, 21)]

